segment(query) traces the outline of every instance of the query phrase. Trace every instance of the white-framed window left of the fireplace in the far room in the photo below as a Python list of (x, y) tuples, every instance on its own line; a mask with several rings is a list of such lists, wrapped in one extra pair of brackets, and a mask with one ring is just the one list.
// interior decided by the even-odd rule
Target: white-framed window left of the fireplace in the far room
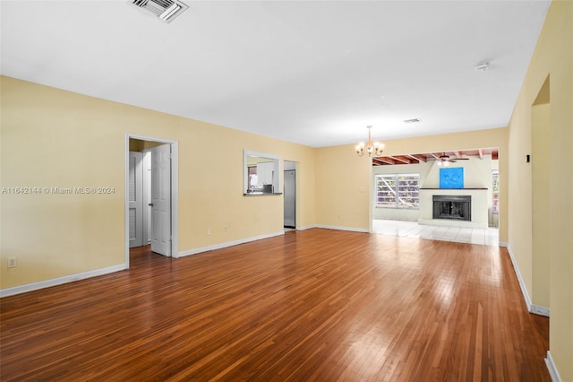
[(376, 175), (376, 207), (418, 208), (420, 174)]

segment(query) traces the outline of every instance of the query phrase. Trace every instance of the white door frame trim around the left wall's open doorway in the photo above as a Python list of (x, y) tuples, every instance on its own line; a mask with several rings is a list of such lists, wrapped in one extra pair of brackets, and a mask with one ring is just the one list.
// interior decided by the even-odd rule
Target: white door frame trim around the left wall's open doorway
[(139, 139), (171, 145), (171, 257), (179, 257), (179, 143), (170, 139), (125, 133), (124, 140), (124, 254), (129, 268), (129, 140)]

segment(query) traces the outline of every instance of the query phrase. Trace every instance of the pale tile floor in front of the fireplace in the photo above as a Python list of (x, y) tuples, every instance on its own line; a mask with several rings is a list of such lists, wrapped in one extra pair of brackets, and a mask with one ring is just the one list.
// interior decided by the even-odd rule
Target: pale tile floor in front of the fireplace
[(423, 225), (416, 221), (372, 221), (372, 232), (382, 235), (409, 236), (413, 238), (457, 241), (460, 243), (499, 246), (500, 236), (497, 228), (460, 228), (437, 225)]

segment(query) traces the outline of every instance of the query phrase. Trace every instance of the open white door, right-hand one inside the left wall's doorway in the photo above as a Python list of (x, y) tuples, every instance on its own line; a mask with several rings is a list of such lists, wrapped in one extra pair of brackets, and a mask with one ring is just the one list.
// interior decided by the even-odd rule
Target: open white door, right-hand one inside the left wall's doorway
[(151, 149), (151, 250), (171, 256), (171, 145)]

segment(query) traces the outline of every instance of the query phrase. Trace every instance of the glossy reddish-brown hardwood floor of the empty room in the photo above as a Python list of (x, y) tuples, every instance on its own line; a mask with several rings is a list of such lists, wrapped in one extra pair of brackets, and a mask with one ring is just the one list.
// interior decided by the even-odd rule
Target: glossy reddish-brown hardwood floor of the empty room
[(1, 379), (549, 381), (505, 248), (338, 230), (0, 300)]

